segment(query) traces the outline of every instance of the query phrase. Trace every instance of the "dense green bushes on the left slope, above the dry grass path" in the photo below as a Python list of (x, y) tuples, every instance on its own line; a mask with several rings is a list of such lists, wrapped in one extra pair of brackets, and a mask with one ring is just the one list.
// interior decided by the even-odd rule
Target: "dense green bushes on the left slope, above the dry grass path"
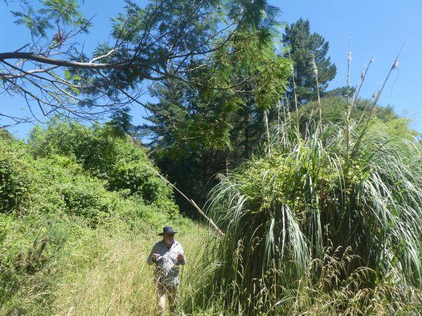
[(96, 230), (136, 236), (186, 222), (145, 152), (109, 126), (56, 121), (29, 143), (0, 137), (0, 153), (1, 315), (49, 315), (62, 258)]

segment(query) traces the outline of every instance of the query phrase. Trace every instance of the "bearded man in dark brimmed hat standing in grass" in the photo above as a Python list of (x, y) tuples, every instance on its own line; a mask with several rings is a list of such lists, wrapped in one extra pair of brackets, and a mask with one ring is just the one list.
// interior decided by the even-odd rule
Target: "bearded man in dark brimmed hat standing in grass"
[(148, 256), (148, 265), (155, 263), (155, 295), (158, 306), (155, 315), (163, 316), (165, 307), (165, 296), (169, 301), (170, 312), (176, 315), (177, 286), (179, 285), (179, 266), (184, 265), (184, 256), (181, 244), (174, 240), (173, 228), (162, 228), (158, 236), (162, 236), (162, 241), (153, 246), (151, 254)]

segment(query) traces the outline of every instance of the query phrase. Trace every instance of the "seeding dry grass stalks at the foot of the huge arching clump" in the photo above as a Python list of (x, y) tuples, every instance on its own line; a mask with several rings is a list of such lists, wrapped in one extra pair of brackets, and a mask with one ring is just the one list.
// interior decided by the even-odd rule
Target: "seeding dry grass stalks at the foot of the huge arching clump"
[[(241, 245), (239, 245), (239, 248)], [(238, 280), (227, 284), (225, 289), (212, 287), (215, 279), (203, 266), (193, 270), (187, 285), (182, 287), (182, 310), (186, 315), (412, 315), (420, 314), (422, 291), (392, 284), (390, 277), (382, 279), (376, 287), (366, 287), (366, 279), (373, 276), (369, 268), (347, 271), (350, 261), (356, 260), (350, 249), (324, 251), (324, 257), (314, 259), (300, 279), (292, 284), (277, 284), (267, 287), (272, 275), (290, 275), (291, 266), (286, 262), (281, 268), (271, 270), (257, 280), (260, 291), (250, 294), (248, 301), (240, 304), (231, 298), (233, 292), (241, 291), (243, 261), (235, 255), (234, 267), (238, 269)], [(210, 267), (212, 269), (212, 267)], [(345, 277), (347, 276), (347, 277)], [(399, 275), (394, 275), (399, 277)], [(197, 282), (209, 284), (205, 291), (197, 291)], [(218, 282), (217, 282), (218, 283)], [(214, 300), (209, 293), (218, 292)], [(206, 294), (204, 294), (206, 293)], [(246, 294), (246, 293), (245, 293)]]

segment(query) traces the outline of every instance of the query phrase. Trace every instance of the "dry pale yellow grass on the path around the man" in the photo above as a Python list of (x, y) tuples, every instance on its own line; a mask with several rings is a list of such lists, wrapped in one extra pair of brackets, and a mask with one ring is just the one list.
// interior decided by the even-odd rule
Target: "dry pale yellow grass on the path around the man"
[[(202, 235), (199, 227), (177, 235), (188, 259), (182, 282), (193, 268), (191, 259), (200, 249)], [(101, 235), (85, 241), (90, 243), (85, 245), (86, 254), (79, 252), (65, 263), (53, 304), (56, 315), (154, 315), (153, 268), (146, 258), (159, 238)], [(101, 250), (89, 254), (89, 249)]]

